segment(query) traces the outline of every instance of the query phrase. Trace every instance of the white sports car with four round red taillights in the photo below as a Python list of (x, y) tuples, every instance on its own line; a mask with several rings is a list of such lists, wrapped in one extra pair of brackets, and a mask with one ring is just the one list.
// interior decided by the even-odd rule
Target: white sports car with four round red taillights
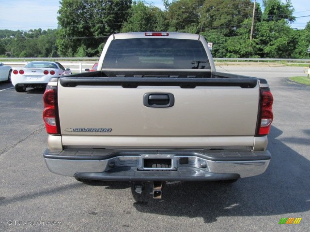
[(70, 74), (70, 69), (65, 69), (59, 62), (33, 61), (24, 68), (14, 69), (11, 82), (17, 92), (25, 92), (28, 87), (45, 88), (52, 77)]

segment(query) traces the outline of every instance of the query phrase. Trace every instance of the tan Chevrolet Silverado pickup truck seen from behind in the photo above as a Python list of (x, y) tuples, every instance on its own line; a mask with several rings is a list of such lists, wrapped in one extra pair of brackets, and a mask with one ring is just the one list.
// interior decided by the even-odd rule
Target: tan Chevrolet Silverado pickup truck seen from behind
[(97, 71), (51, 79), (43, 101), (47, 167), (82, 182), (161, 198), (163, 183), (234, 182), (271, 158), (267, 81), (216, 72), (200, 35), (113, 34)]

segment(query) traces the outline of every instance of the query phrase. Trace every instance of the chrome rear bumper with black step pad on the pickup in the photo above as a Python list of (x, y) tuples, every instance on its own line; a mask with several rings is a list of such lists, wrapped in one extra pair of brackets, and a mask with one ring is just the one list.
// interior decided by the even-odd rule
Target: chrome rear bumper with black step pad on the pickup
[[(111, 181), (207, 181), (256, 176), (265, 172), (268, 151), (66, 149), (43, 154), (56, 174)], [(163, 162), (160, 167), (148, 163)], [(156, 165), (155, 165), (156, 166)]]

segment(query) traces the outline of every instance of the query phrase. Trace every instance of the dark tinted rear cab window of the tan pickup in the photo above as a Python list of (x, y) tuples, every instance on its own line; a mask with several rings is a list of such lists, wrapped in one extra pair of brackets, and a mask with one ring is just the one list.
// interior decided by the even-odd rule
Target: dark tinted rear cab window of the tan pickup
[(199, 40), (135, 38), (111, 41), (103, 68), (210, 69)]

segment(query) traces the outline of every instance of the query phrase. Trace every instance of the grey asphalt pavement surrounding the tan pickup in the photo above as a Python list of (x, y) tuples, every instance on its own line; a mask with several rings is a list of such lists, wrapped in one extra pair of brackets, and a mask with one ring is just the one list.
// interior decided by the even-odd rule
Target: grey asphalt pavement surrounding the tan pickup
[[(182, 183), (136, 202), (130, 183), (86, 185), (48, 171), (43, 90), (0, 83), (0, 231), (309, 231), (310, 87), (303, 67), (221, 67), (268, 80), (274, 121), (267, 171), (231, 185)], [(280, 225), (281, 218), (302, 218)]]

